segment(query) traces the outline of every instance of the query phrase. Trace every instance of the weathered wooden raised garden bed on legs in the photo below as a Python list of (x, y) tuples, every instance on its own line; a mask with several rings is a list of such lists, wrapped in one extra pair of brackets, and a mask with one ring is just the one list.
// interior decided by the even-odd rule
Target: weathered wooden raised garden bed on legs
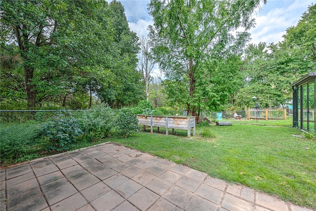
[(196, 118), (195, 117), (167, 117), (167, 116), (145, 116), (136, 115), (139, 125), (150, 126), (150, 132), (153, 133), (153, 127), (165, 127), (166, 135), (168, 135), (168, 128), (186, 129), (188, 130), (188, 137), (191, 136), (191, 128), (193, 128), (193, 135), (196, 134)]

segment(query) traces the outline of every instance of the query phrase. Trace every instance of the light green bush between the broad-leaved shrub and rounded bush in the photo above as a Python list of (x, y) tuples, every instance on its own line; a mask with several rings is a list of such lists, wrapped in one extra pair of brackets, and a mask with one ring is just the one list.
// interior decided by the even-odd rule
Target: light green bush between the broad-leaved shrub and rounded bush
[(82, 116), (81, 127), (84, 136), (89, 141), (99, 141), (110, 135), (113, 127), (113, 110), (103, 104), (95, 105), (91, 111), (87, 111)]

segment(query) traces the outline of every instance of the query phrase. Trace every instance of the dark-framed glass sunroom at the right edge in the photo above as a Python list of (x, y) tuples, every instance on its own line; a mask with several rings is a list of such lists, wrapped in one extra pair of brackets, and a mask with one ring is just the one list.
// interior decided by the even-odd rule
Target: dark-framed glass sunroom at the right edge
[(293, 90), (293, 127), (316, 131), (316, 72), (291, 84)]

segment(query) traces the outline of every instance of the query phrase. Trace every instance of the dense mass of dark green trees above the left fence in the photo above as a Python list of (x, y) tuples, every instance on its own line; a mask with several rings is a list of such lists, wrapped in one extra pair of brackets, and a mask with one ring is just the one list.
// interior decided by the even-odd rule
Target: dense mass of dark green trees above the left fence
[(120, 2), (5, 0), (0, 8), (1, 52), (9, 58), (13, 47), (21, 58), (19, 66), (3, 72), (7, 64), (1, 59), (1, 73), (14, 73), (6, 74), (7, 82), (23, 85), (29, 107), (56, 99), (65, 106), (67, 98), (87, 92), (89, 104), (92, 96), (116, 107), (140, 99), (138, 38)]

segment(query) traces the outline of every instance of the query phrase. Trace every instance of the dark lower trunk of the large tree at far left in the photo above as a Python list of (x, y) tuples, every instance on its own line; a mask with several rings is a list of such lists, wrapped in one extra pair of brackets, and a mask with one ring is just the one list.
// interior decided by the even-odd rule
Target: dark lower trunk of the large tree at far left
[(36, 106), (36, 90), (34, 90), (35, 85), (32, 85), (34, 69), (24, 67), (24, 89), (26, 91), (26, 99), (28, 102), (28, 107)]

